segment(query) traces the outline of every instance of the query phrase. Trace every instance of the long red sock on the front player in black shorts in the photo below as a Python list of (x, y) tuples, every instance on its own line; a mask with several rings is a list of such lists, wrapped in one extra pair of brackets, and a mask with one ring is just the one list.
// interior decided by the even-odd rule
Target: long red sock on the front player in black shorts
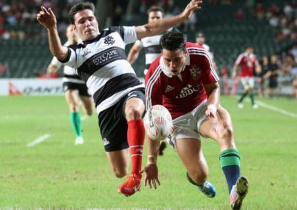
[(139, 174), (145, 142), (145, 127), (141, 119), (128, 121), (127, 139), (132, 163), (131, 174)]

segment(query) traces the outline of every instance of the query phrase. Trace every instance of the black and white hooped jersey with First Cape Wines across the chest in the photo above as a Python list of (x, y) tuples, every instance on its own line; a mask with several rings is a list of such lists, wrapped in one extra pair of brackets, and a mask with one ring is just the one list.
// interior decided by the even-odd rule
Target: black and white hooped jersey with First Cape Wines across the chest
[(131, 90), (144, 88), (126, 59), (125, 45), (137, 40), (135, 27), (111, 27), (93, 40), (68, 47), (64, 64), (77, 69), (91, 93), (97, 113)]

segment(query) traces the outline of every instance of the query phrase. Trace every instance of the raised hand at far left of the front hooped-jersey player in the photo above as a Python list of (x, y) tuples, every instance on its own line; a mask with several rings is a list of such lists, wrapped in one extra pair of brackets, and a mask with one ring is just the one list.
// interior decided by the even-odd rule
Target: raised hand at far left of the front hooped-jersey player
[(51, 8), (46, 9), (44, 6), (40, 7), (40, 12), (37, 14), (37, 21), (47, 29), (57, 26), (56, 16)]

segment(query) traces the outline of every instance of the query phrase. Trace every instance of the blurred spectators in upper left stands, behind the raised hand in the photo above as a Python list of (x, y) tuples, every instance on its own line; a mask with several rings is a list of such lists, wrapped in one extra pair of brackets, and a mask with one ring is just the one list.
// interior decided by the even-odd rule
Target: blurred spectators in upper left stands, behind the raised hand
[[(40, 6), (51, 7), (59, 22), (58, 30), (62, 37), (69, 23), (70, 7), (82, 0), (0, 0), (0, 38), (23, 40), (46, 38), (36, 21)], [(92, 0), (91, 0), (92, 1)], [(93, 0), (93, 2), (95, 2)]]

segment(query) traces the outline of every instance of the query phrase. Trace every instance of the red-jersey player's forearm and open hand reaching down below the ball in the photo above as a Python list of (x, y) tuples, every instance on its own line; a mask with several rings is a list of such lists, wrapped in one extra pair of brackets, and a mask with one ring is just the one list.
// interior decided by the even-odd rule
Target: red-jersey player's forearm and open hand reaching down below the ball
[(148, 143), (148, 163), (147, 165), (140, 171), (141, 173), (146, 173), (144, 184), (145, 186), (151, 185), (156, 189), (157, 184), (160, 185), (160, 181), (158, 179), (158, 167), (157, 167), (157, 156), (158, 156), (158, 148), (160, 145), (159, 141), (153, 141), (149, 137), (147, 137)]

